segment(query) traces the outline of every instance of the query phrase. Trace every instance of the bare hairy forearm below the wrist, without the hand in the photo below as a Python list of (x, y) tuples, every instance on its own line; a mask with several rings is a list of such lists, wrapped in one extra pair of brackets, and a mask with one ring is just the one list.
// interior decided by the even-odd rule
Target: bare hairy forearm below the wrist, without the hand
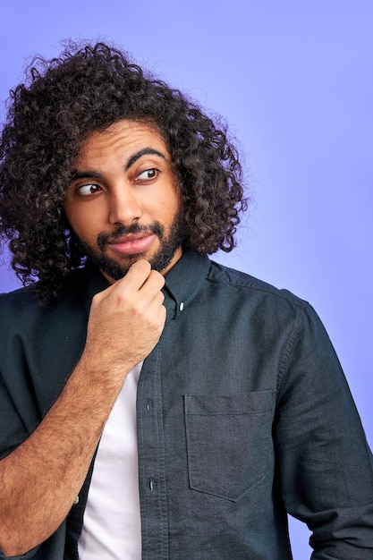
[(37, 546), (64, 521), (123, 377), (93, 371), (83, 358), (35, 432), (0, 462), (0, 548), (6, 555)]

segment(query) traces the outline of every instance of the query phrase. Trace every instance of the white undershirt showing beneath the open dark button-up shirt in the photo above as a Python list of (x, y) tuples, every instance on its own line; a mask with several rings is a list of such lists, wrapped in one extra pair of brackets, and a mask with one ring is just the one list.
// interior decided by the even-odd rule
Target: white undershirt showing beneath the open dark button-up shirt
[(140, 560), (136, 394), (142, 362), (128, 374), (102, 433), (89, 486), (81, 560)]

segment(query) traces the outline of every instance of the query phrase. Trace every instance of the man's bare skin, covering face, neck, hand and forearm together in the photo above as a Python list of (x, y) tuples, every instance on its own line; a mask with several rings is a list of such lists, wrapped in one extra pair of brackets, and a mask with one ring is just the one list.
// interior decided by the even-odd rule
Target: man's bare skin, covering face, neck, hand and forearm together
[[(139, 157), (144, 148), (157, 153)], [(180, 211), (168, 151), (154, 129), (125, 121), (95, 132), (77, 170), (89, 174), (72, 180), (66, 216), (94, 253), (104, 251), (128, 273), (114, 282), (104, 272), (111, 285), (93, 298), (84, 352), (63, 393), (30, 437), (0, 461), (0, 548), (6, 556), (46, 540), (69, 513), (124, 379), (162, 334), (163, 275), (182, 256), (176, 247), (162, 274), (149, 263), (164, 242), (148, 226), (159, 222), (167, 237)], [(113, 239), (118, 227), (133, 224), (145, 230)], [(100, 233), (109, 235), (104, 250)]]

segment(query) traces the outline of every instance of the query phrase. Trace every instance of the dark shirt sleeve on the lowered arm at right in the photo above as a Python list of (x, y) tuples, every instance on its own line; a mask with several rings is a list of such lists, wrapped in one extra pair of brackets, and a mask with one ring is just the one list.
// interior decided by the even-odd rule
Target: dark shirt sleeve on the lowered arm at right
[(373, 558), (373, 462), (325, 328), (310, 306), (283, 356), (275, 422), (286, 511), (312, 531), (312, 560)]

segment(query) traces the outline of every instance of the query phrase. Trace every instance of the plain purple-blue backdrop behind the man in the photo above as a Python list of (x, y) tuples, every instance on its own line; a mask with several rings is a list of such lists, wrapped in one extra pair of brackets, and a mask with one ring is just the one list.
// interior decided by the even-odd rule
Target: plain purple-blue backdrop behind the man
[[(312, 303), (373, 445), (371, 0), (19, 0), (0, 13), (2, 100), (30, 55), (108, 38), (225, 115), (256, 201), (216, 259)], [(0, 292), (19, 285), (3, 261)], [(292, 522), (295, 560), (308, 536)]]

